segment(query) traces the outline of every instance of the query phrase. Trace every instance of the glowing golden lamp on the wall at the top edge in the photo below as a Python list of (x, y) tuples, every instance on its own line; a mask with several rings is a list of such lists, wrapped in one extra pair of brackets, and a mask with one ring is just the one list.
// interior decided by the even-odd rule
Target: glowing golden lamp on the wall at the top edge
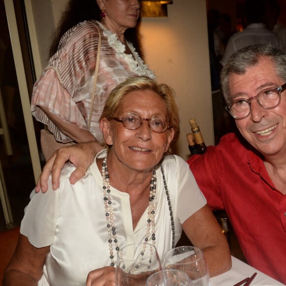
[(167, 17), (167, 4), (173, 0), (141, 0), (141, 17)]

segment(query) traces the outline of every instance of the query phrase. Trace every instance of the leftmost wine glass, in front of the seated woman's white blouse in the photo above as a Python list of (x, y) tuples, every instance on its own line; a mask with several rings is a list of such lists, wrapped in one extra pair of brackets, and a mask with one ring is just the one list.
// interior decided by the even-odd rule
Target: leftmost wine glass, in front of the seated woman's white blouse
[(136, 243), (121, 248), (117, 253), (116, 285), (145, 286), (147, 278), (162, 270), (155, 246)]

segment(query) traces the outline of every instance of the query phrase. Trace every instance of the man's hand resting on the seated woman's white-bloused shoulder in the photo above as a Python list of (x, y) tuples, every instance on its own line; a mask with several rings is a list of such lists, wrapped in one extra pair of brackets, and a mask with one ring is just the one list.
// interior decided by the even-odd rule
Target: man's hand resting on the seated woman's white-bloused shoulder
[(71, 184), (76, 183), (84, 176), (95, 155), (102, 149), (104, 147), (97, 142), (86, 142), (56, 150), (42, 170), (36, 184), (36, 193), (40, 190), (43, 193), (47, 191), (47, 181), (50, 174), (52, 174), (53, 189), (56, 190), (60, 186), (61, 170), (67, 161), (70, 161), (76, 167), (70, 177)]

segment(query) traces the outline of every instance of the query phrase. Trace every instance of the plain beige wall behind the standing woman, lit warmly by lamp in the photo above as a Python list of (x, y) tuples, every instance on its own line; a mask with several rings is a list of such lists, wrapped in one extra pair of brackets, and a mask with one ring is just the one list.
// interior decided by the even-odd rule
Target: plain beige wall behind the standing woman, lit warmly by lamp
[[(67, 0), (50, 1), (53, 29)], [(180, 135), (175, 151), (186, 159), (190, 118), (197, 119), (205, 142), (214, 143), (206, 2), (174, 0), (168, 5), (168, 17), (142, 19), (141, 34), (145, 62), (159, 82), (169, 84), (177, 93)]]

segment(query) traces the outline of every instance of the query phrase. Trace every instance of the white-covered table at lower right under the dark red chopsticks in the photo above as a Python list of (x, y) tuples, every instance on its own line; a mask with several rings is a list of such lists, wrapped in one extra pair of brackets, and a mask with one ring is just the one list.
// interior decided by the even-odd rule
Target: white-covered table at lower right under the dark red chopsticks
[(285, 285), (233, 256), (231, 257), (231, 260), (231, 269), (221, 275), (211, 278), (211, 286), (233, 286), (244, 278), (250, 277), (254, 272), (257, 272), (257, 275), (252, 280), (250, 286)]

